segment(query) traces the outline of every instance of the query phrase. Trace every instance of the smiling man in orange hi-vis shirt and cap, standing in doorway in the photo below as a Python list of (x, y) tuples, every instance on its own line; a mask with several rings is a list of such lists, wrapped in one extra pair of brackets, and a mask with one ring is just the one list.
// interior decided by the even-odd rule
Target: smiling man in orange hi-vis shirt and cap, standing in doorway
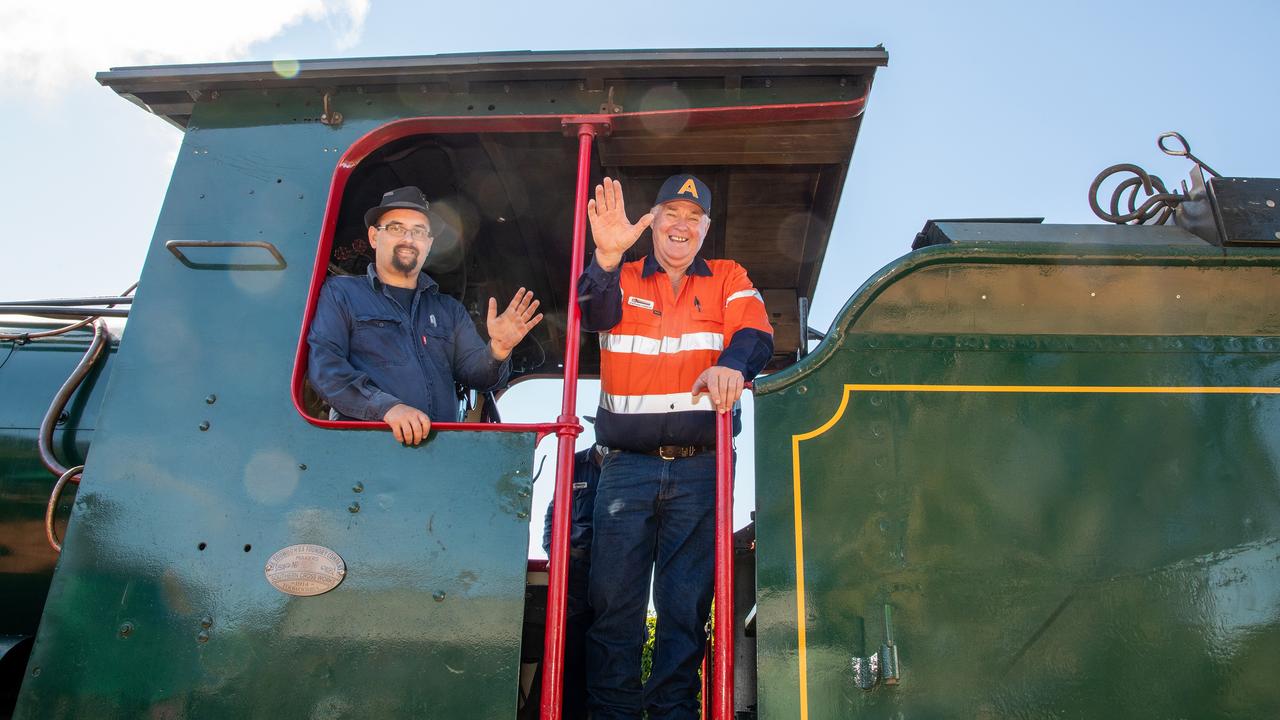
[[(579, 281), (582, 327), (600, 333), (604, 457), (595, 496), (588, 633), (594, 720), (698, 717), (698, 667), (712, 605), (716, 414), (773, 355), (760, 293), (732, 260), (703, 260), (710, 190), (690, 174), (627, 217), (622, 183), (604, 178), (588, 202), (595, 256)], [(622, 263), (645, 228), (653, 254)], [(658, 635), (640, 684), (650, 573)]]

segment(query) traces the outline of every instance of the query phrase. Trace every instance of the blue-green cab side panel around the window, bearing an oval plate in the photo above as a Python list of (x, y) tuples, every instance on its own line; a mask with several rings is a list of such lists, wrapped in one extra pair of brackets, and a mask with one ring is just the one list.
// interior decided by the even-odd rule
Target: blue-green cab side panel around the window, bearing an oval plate
[[(297, 414), (333, 149), (379, 123), (211, 128), (212, 106), (180, 149), (17, 716), (511, 717), (535, 438), (404, 448)], [(287, 268), (192, 269), (169, 240), (265, 240)], [(294, 543), (337, 551), (346, 580), (275, 591), (264, 564)]]

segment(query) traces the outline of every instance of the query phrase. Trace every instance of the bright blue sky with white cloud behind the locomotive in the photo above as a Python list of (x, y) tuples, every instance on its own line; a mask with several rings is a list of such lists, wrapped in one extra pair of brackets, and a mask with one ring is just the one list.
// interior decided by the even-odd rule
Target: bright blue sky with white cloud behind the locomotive
[[(69, 5), (0, 6), (4, 299), (110, 295), (142, 266), (180, 133), (93, 81), (113, 65), (883, 44), (890, 65), (877, 73), (813, 304), (819, 328), (929, 218), (1094, 223), (1089, 182), (1121, 161), (1175, 186), (1190, 164), (1156, 150), (1166, 129), (1224, 174), (1280, 174), (1280, 3)], [(547, 419), (558, 400), (540, 404), (556, 396), (517, 388), (508, 400)]]

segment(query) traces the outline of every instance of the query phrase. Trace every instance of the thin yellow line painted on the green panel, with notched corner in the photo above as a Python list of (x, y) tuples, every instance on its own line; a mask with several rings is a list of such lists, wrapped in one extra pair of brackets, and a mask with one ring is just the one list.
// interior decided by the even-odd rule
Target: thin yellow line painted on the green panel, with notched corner
[(840, 407), (820, 427), (791, 436), (791, 492), (795, 506), (796, 541), (796, 653), (800, 670), (800, 720), (809, 720), (809, 659), (805, 647), (804, 594), (804, 514), (800, 507), (800, 443), (813, 439), (840, 421), (854, 392), (1046, 392), (1070, 395), (1280, 395), (1280, 387), (1152, 387), (1152, 386), (931, 386), (931, 384), (846, 384)]

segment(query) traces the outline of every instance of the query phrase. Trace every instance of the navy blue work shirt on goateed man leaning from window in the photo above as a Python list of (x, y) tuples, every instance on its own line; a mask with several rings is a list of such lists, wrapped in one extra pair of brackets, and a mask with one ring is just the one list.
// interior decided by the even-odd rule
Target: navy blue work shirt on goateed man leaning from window
[(307, 378), (343, 420), (378, 421), (403, 402), (431, 420), (456, 421), (454, 382), (485, 392), (511, 370), (509, 359), (494, 360), (462, 304), (426, 273), (404, 310), (372, 264), (365, 277), (325, 281), (307, 345)]

